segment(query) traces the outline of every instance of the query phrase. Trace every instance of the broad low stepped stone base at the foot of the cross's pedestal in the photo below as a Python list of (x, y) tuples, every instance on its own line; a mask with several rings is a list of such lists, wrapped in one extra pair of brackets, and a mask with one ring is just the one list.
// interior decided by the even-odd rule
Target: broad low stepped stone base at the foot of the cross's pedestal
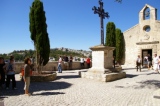
[(103, 82), (115, 81), (126, 78), (125, 72), (114, 72), (113, 69), (89, 69), (87, 72), (80, 72), (82, 78), (94, 79)]

